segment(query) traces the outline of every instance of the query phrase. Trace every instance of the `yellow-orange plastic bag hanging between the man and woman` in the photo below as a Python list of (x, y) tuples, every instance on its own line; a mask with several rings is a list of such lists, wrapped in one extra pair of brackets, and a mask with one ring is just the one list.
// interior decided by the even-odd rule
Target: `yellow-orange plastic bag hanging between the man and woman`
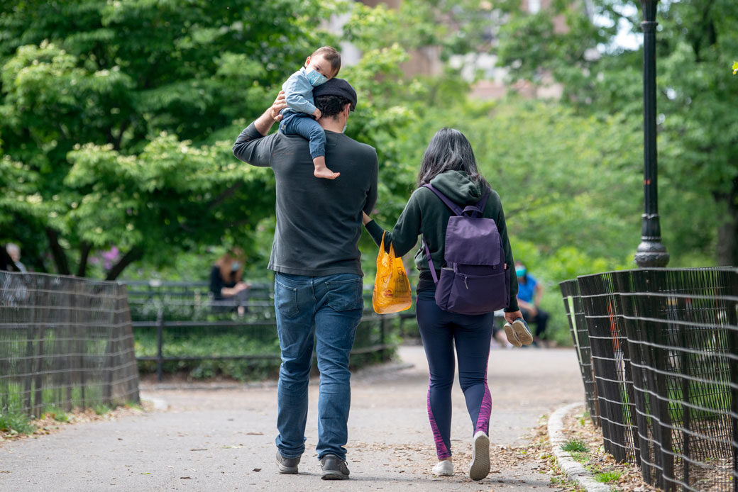
[(410, 280), (407, 280), (402, 258), (395, 257), (395, 249), (391, 244), (390, 252), (384, 252), (384, 235), (376, 257), (376, 279), (371, 302), (374, 311), (379, 314), (405, 311), (413, 303)]

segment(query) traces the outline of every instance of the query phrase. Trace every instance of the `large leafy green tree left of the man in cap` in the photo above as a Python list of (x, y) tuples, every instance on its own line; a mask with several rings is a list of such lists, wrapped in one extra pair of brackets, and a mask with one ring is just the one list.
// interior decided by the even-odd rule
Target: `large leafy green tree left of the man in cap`
[[(249, 246), (271, 173), (230, 155), (312, 49), (331, 1), (13, 1), (0, 7), (0, 229), (31, 266), (115, 278), (223, 238)], [(203, 145), (208, 143), (210, 145)], [(21, 163), (21, 164), (15, 164)], [(18, 167), (19, 166), (19, 167)], [(46, 246), (40, 246), (40, 245)], [(72, 262), (77, 268), (72, 268)]]

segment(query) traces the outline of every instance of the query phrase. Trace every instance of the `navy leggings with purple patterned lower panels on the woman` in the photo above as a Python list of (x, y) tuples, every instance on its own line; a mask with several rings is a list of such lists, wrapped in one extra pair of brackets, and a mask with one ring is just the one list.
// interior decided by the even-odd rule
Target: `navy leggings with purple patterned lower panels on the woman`
[(472, 435), (489, 434), (492, 398), (487, 386), (489, 342), (494, 314), (470, 316), (438, 308), (435, 291), (420, 291), (415, 305), (418, 328), (430, 369), (428, 418), (438, 460), (451, 456), (451, 387), (454, 382), (454, 345), (458, 356), (459, 383), (472, 417)]

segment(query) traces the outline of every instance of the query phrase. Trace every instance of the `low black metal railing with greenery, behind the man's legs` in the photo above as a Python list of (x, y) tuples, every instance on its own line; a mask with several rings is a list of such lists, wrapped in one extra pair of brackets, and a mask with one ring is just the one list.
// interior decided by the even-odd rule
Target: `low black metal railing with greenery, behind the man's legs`
[[(233, 300), (214, 301), (207, 283), (154, 280), (127, 285), (137, 360), (144, 368), (154, 364), (159, 381), (165, 372), (178, 370), (195, 376), (217, 375), (218, 370), (208, 364), (213, 361), (233, 361), (230, 369), (244, 378), (254, 372), (274, 373), (279, 366), (272, 284), (251, 285), (243, 314)], [(356, 356), (365, 355), (385, 360), (397, 344), (394, 333), (399, 331), (399, 315), (374, 313), (370, 299), (368, 292), (351, 351), (352, 363)], [(201, 343), (193, 343), (196, 340)]]

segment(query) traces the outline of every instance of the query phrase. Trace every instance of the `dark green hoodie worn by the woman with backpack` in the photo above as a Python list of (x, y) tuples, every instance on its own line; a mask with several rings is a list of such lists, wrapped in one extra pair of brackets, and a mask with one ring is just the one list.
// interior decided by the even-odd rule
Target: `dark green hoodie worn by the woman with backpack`
[[(483, 186), (477, 186), (463, 171), (446, 171), (446, 173), (435, 176), (430, 184), (462, 207), (476, 204), (477, 201), (480, 201), (484, 192)], [(444, 202), (435, 193), (421, 187), (415, 190), (413, 195), (410, 195), (410, 200), (407, 201), (407, 205), (405, 205), (400, 218), (397, 219), (397, 224), (395, 224), (392, 232), (387, 232), (384, 236), (384, 248), (389, 251), (389, 245), (392, 243), (397, 256), (404, 256), (404, 254), (410, 252), (410, 249), (413, 249), (415, 244), (418, 244), (418, 251), (415, 253), (415, 266), (420, 271), (418, 291), (435, 288), (423, 243), (418, 243), (418, 235), (423, 235), (428, 243), (433, 266), (440, 275), (441, 267), (445, 263), (446, 224), (448, 224), (451, 215), (451, 210), (444, 205)], [(500, 195), (497, 195), (494, 190), (490, 193), (484, 208), (484, 217), (494, 219), (494, 223), (497, 224), (497, 230), (500, 231), (500, 238), (505, 250), (506, 263), (508, 268), (514, 268), (515, 262), (508, 240), (503, 206), (500, 202)], [(366, 225), (366, 229), (374, 242), (379, 245), (382, 241), (384, 229), (377, 225), (375, 221), (370, 221)], [(513, 270), (511, 270), (510, 275), (510, 306), (506, 311), (518, 311), (517, 277)]]

